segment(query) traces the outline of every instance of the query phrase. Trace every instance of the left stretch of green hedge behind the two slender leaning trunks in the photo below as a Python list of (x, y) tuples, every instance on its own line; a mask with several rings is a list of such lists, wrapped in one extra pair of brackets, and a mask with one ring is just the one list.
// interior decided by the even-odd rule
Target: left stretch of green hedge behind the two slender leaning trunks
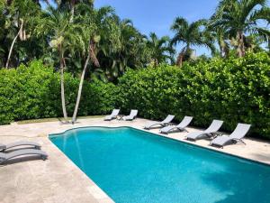
[[(0, 69), (0, 124), (14, 120), (62, 116), (59, 74), (33, 61), (18, 69)], [(67, 113), (76, 103), (78, 78), (65, 74)], [(78, 115), (102, 115), (115, 106), (117, 88), (95, 80), (85, 82)]]

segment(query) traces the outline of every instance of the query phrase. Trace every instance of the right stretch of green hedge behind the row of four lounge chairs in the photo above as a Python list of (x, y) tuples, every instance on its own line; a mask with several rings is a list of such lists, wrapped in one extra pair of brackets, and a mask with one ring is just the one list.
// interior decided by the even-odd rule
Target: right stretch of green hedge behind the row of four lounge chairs
[(206, 127), (212, 119), (225, 121), (223, 130), (237, 123), (252, 125), (252, 134), (270, 138), (270, 58), (266, 53), (243, 59), (213, 59), (183, 68), (130, 69), (120, 78), (125, 111), (161, 119), (173, 114), (179, 121), (193, 115), (193, 125)]

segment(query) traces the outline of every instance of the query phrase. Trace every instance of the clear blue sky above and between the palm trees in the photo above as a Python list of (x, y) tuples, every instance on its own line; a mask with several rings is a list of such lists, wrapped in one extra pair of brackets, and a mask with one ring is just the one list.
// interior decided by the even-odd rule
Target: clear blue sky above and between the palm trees
[[(175, 17), (182, 16), (189, 22), (209, 18), (218, 0), (95, 0), (94, 6), (111, 5), (121, 18), (129, 18), (140, 32), (156, 32), (158, 36), (169, 35)], [(210, 54), (204, 48), (196, 48), (196, 54)]]

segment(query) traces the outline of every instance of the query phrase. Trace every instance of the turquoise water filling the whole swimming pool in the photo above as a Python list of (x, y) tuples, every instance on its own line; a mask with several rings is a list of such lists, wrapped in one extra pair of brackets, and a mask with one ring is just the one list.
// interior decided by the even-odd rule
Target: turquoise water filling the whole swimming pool
[(269, 203), (270, 167), (129, 127), (50, 140), (116, 203)]

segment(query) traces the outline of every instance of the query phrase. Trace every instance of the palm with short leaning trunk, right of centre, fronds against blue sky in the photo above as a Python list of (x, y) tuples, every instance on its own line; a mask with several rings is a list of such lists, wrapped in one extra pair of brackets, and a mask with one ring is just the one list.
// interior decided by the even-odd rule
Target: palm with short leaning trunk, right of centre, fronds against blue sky
[(171, 30), (175, 32), (175, 36), (171, 40), (172, 45), (177, 43), (184, 43), (184, 47), (179, 52), (176, 60), (177, 66), (182, 66), (184, 56), (192, 51), (194, 46), (204, 46), (209, 48), (212, 52), (215, 51), (213, 45), (214, 39), (206, 29), (206, 20), (198, 20), (193, 23), (188, 23), (183, 17), (177, 17), (171, 26)]

